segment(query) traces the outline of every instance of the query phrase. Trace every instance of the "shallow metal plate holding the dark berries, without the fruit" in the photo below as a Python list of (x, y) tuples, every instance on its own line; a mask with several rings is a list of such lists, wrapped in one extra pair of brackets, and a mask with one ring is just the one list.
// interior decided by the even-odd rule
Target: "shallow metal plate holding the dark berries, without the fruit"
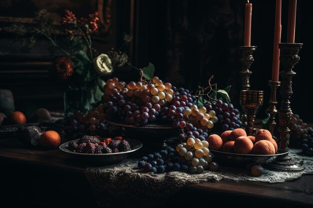
[[(77, 142), (79, 139), (72, 140)], [(130, 145), (130, 150), (127, 152), (119, 152), (119, 153), (108, 153), (108, 154), (84, 154), (84, 153), (76, 153), (68, 150), (68, 143), (65, 142), (59, 146), (59, 149), (65, 153), (67, 153), (73, 159), (77, 159), (85, 164), (89, 165), (106, 165), (106, 164), (113, 164), (122, 161), (123, 159), (127, 158), (128, 155), (132, 152), (139, 150), (142, 147), (142, 143), (134, 140), (125, 138), (125, 140)]]

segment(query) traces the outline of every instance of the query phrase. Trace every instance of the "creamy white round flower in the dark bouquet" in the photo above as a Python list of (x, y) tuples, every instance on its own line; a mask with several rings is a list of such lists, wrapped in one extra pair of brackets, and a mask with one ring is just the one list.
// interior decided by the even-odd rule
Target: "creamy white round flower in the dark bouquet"
[(93, 67), (94, 70), (101, 75), (108, 75), (113, 72), (111, 59), (104, 53), (94, 58)]

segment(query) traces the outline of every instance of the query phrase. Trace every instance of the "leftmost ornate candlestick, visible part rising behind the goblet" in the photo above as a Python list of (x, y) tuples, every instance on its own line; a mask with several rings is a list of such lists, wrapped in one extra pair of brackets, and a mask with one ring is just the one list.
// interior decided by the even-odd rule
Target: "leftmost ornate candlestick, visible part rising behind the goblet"
[(241, 63), (241, 89), (250, 89), (249, 77), (252, 72), (249, 70), (251, 64), (254, 61), (253, 52), (256, 50), (256, 46), (239, 46), (240, 51), (240, 63)]

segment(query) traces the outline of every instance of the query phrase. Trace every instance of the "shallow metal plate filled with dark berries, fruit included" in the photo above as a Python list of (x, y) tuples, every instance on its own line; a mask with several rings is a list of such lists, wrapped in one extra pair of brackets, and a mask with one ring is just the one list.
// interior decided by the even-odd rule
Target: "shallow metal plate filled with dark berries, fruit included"
[(105, 165), (118, 163), (141, 147), (142, 143), (134, 139), (85, 135), (61, 144), (59, 149), (86, 164)]

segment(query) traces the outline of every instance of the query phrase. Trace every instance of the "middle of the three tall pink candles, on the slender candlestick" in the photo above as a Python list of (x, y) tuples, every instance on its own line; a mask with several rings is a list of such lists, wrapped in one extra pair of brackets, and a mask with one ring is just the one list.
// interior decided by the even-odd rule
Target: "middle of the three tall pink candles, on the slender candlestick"
[(281, 36), (281, 0), (276, 0), (275, 8), (275, 28), (274, 28), (274, 47), (273, 47), (273, 65), (271, 80), (278, 81), (279, 76), (279, 47)]

